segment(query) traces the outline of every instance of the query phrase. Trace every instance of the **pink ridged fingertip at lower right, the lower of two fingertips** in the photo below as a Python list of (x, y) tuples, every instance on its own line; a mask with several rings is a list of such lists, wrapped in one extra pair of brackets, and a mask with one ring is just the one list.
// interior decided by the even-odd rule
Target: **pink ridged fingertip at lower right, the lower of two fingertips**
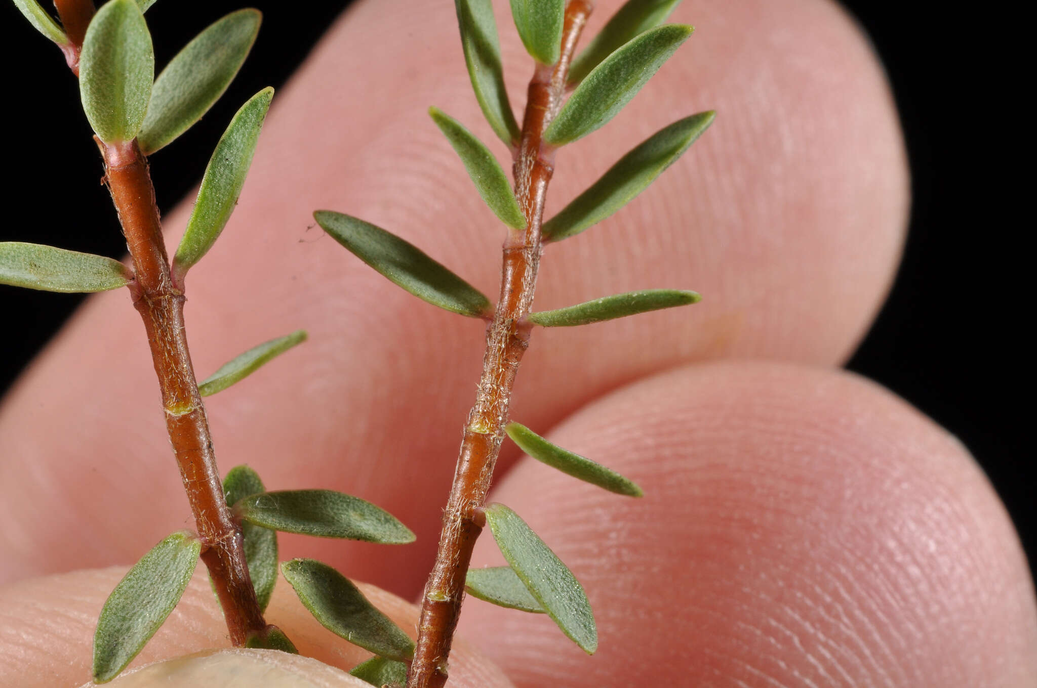
[[(460, 633), (520, 688), (1037, 685), (1004, 508), (960, 443), (885, 390), (718, 364), (618, 391), (549, 438), (645, 496), (531, 459), (492, 494), (571, 568), (600, 637), (587, 657), (542, 615), (470, 599)], [(502, 562), (480, 538), (475, 565)]]

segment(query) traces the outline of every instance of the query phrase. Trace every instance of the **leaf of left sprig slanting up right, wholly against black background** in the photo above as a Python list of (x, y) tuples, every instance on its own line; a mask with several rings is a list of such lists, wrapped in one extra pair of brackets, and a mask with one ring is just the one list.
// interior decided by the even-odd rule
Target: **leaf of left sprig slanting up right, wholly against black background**
[(260, 21), (258, 9), (231, 12), (170, 60), (155, 81), (147, 116), (137, 135), (144, 154), (191, 128), (220, 99), (252, 49)]

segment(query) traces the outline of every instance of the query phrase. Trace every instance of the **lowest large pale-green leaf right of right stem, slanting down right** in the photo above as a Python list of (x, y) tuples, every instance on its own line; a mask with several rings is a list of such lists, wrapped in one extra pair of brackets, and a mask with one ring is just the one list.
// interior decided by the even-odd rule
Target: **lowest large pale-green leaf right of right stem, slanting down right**
[(597, 650), (590, 602), (572, 572), (526, 521), (502, 504), (485, 508), (486, 522), (508, 565), (548, 615), (588, 655)]

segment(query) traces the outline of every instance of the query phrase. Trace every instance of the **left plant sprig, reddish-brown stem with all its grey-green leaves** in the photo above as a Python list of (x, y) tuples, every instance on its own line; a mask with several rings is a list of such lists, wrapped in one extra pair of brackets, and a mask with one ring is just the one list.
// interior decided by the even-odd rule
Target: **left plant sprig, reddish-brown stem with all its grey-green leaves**
[[(132, 267), (103, 256), (6, 241), (0, 243), (0, 283), (63, 292), (130, 288), (147, 331), (170, 443), (197, 527), (164, 539), (108, 598), (94, 633), (96, 683), (115, 678), (143, 649), (180, 599), (199, 558), (208, 569), (233, 644), (296, 652), (263, 618), (277, 581), (278, 531), (387, 544), (414, 540), (395, 517), (358, 497), (331, 490), (268, 491), (248, 466), (233, 468), (222, 483), (219, 479), (202, 397), (240, 382), (307, 337), (298, 331), (253, 347), (199, 385), (184, 326), (185, 276), (213, 248), (233, 212), (274, 90), (256, 93), (231, 119), (170, 261), (147, 156), (172, 143), (220, 98), (248, 56), (261, 16), (242, 9), (223, 17), (155, 79), (151, 34), (143, 16), (152, 2), (109, 0), (94, 12), (92, 0), (67, 0), (59, 4), (59, 25), (35, 0), (15, 0), (32, 26), (61, 48), (79, 78), (83, 112), (104, 157), (105, 182)], [(281, 568), (304, 604), (331, 630), (385, 654), (386, 661), (410, 658), (410, 638), (333, 569), (309, 561)]]

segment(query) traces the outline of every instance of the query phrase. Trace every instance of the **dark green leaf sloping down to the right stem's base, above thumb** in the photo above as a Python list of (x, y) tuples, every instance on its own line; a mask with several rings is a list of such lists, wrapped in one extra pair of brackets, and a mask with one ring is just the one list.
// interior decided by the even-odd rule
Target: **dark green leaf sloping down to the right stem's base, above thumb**
[(414, 641), (407, 633), (335, 569), (314, 560), (297, 558), (282, 564), (281, 572), (303, 605), (335, 635), (399, 662), (414, 655)]

